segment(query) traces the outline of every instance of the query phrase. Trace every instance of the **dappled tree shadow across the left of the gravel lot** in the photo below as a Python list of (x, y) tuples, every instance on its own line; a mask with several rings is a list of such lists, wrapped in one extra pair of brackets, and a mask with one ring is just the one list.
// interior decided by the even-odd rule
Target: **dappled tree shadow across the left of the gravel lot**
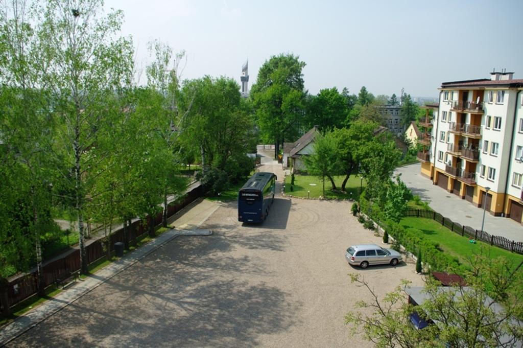
[[(252, 232), (262, 237), (263, 232)], [(256, 280), (270, 274), (262, 261), (236, 253), (240, 248), (283, 248), (285, 237), (266, 234), (261, 243), (241, 230), (176, 238), (13, 344), (259, 345), (260, 336), (297, 324), (293, 313), (302, 306), (290, 300), (291, 294)], [(252, 276), (241, 279), (244, 274)]]

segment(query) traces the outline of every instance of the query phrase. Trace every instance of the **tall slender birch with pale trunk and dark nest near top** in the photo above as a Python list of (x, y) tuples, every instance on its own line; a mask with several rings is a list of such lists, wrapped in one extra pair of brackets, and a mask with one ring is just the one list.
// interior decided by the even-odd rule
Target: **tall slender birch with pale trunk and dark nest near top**
[[(133, 48), (129, 38), (118, 37), (123, 15), (104, 14), (101, 0), (63, 3), (49, 0), (42, 11), (39, 35), (46, 43), (45, 55), (52, 57), (46, 80), (56, 99), (54, 153), (74, 173), (63, 174), (74, 187), (82, 273), (87, 273), (85, 210), (88, 194), (99, 176), (102, 162), (118, 149), (105, 142), (113, 124), (108, 113), (115, 93), (130, 85)], [(103, 145), (108, 144), (107, 148)]]

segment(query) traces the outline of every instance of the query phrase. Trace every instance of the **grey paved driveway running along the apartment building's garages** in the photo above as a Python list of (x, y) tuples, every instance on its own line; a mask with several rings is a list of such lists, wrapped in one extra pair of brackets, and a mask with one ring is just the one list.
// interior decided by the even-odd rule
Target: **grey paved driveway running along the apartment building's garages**
[[(405, 185), (415, 195), (420, 196), (425, 201), (429, 201), (430, 207), (441, 215), (450, 218), (454, 222), (480, 230), (483, 209), (476, 208), (468, 201), (448, 193), (437, 185), (433, 185), (430, 179), (419, 173), (420, 166), (419, 163), (406, 165), (397, 169), (396, 174), (401, 173), (401, 178)], [(510, 240), (523, 242), (523, 226), (512, 219), (495, 217), (487, 212), (485, 214), (484, 230), (490, 234), (502, 235)]]

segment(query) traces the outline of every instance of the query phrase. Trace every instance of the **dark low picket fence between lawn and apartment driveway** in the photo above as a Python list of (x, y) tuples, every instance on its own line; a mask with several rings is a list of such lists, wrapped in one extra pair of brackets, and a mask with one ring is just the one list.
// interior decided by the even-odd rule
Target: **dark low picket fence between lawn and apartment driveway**
[(462, 226), (458, 222), (453, 222), (451, 219), (442, 216), (436, 211), (410, 208), (405, 212), (405, 216), (433, 219), (441, 223), (442, 226), (445, 226), (452, 232), (456, 232), (462, 236), (466, 235), (470, 239), (480, 240), (490, 245), (499, 246), (499, 248), (503, 248), (514, 253), (523, 254), (522, 242), (511, 241), (505, 237), (502, 237), (501, 235), (492, 235), (485, 231), (475, 230), (470, 226)]

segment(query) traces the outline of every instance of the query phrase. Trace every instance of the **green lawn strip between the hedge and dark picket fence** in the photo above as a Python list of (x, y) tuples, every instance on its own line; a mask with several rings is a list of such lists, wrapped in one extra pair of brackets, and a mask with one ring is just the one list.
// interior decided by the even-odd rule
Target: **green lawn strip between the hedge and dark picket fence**
[(497, 246), (491, 246), (480, 241), (477, 241), (476, 244), (470, 243), (467, 237), (452, 232), (432, 219), (405, 217), (400, 221), (400, 224), (405, 228), (422, 230), (425, 238), (438, 243), (442, 250), (458, 257), (460, 262), (464, 264), (468, 264), (468, 257), (480, 253), (482, 248), (483, 252), (490, 254), (491, 258), (501, 256), (513, 263), (519, 263), (523, 260), (523, 255), (511, 253)]

